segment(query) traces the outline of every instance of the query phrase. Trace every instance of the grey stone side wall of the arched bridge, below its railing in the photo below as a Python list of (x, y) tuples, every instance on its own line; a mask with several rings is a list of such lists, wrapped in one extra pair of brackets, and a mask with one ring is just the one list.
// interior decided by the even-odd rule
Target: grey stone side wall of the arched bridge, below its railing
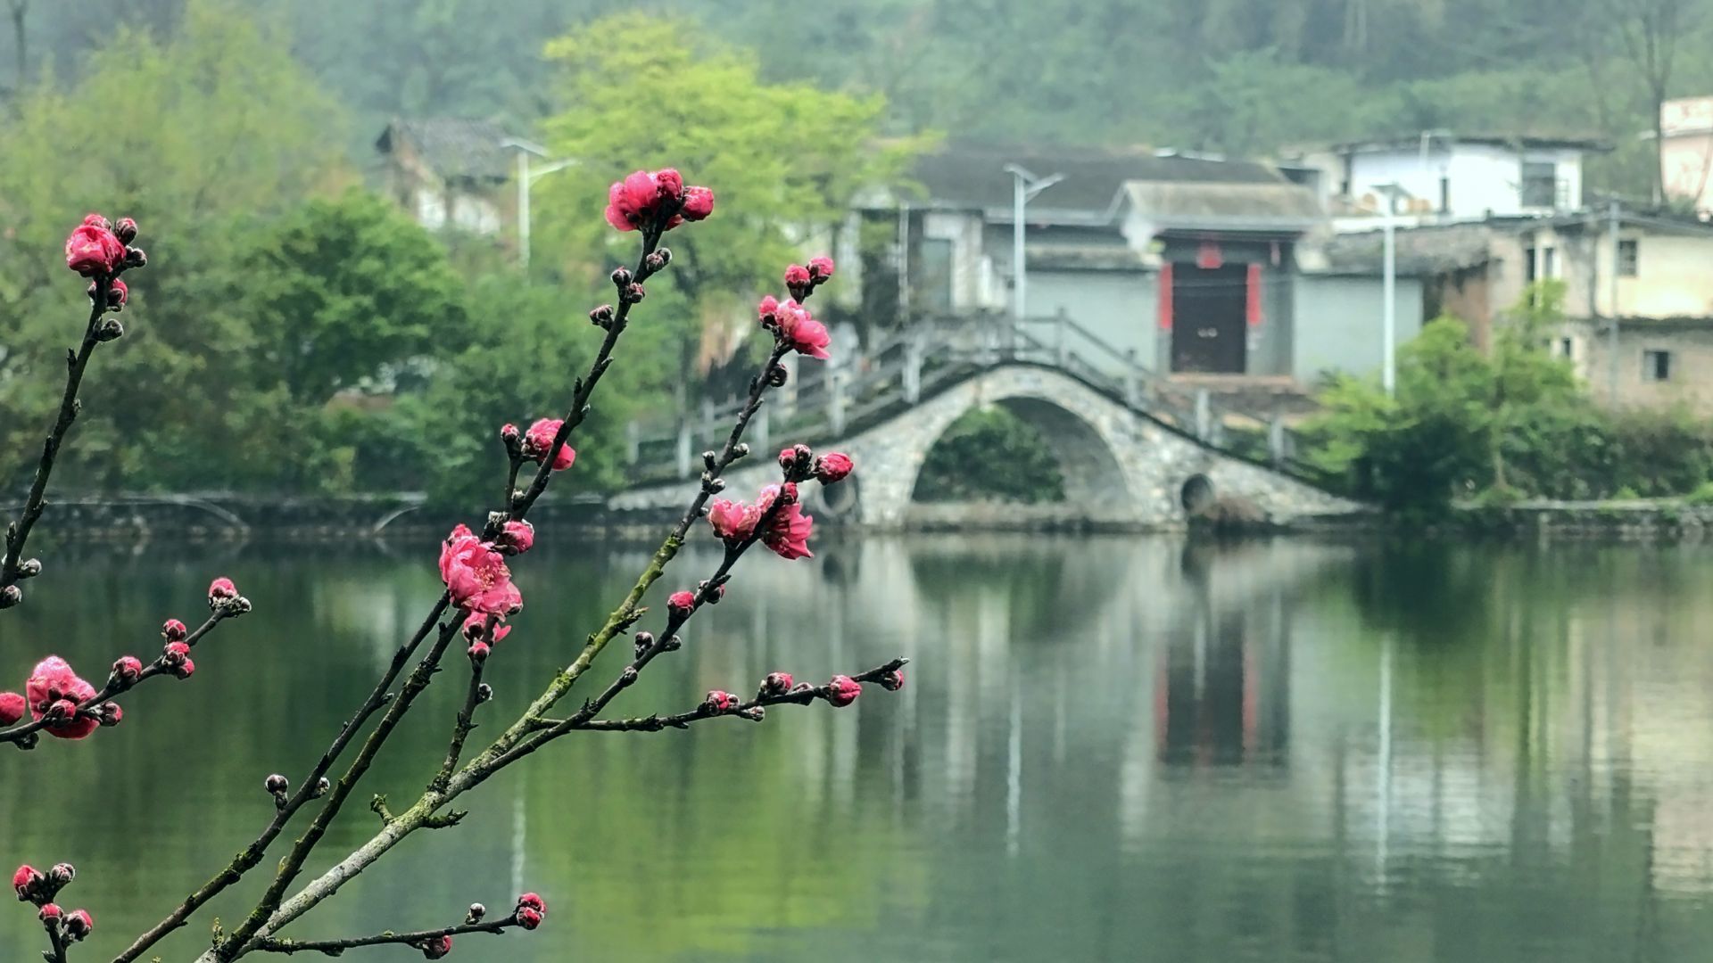
[[(1042, 428), (1064, 468), (1065, 507), (1093, 526), (1184, 528), (1182, 490), (1197, 475), (1213, 483), (1216, 495), (1247, 499), (1276, 524), (1365, 511), (1286, 475), (1223, 456), (1069, 375), (1031, 365), (992, 368), (829, 446), (850, 452), (856, 475), (827, 495), (815, 490), (810, 509), (872, 528), (908, 526), (928, 449), (959, 415), (983, 404), (1004, 404)], [(728, 473), (730, 490), (742, 497), (774, 482), (778, 468), (771, 456), (759, 454), (750, 466)], [(668, 509), (682, 505), (689, 493), (685, 483), (656, 485), (617, 495), (610, 507)], [(822, 504), (824, 497), (838, 504)]]

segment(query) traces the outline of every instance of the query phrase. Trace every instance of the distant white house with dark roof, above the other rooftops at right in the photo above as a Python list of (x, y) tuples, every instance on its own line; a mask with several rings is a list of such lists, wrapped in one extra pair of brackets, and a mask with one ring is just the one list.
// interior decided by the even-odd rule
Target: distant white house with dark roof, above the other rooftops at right
[(1285, 161), (1319, 171), (1314, 182), (1334, 214), (1377, 212), (1396, 187), (1401, 188), (1398, 214), (1417, 221), (1477, 221), (1579, 209), (1583, 154), (1607, 149), (1597, 141), (1427, 130), (1297, 151)]

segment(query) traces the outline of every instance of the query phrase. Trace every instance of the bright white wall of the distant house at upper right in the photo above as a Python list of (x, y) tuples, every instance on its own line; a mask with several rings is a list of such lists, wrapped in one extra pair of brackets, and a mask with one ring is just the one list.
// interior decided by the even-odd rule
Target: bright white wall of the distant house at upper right
[(1583, 195), (1581, 154), (1571, 149), (1513, 151), (1485, 144), (1435, 144), (1422, 163), (1422, 153), (1413, 147), (1394, 151), (1364, 151), (1352, 161), (1350, 195), (1381, 199), (1381, 185), (1398, 183), (1439, 209), (1439, 178), (1451, 178), (1451, 216), (1483, 218), (1540, 214), (1550, 207), (1523, 207), (1523, 163), (1543, 161), (1557, 166), (1557, 197), (1561, 207), (1578, 207)]

